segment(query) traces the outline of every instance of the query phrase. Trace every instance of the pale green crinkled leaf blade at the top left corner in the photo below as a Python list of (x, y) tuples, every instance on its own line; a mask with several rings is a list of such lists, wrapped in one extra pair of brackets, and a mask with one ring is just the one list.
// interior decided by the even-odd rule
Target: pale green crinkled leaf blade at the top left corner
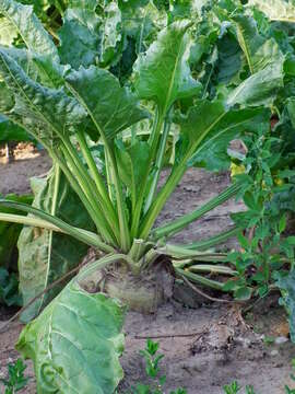
[(17, 30), (28, 49), (50, 55), (58, 61), (57, 48), (34, 14), (32, 5), (23, 5), (14, 0), (1, 0), (0, 13)]

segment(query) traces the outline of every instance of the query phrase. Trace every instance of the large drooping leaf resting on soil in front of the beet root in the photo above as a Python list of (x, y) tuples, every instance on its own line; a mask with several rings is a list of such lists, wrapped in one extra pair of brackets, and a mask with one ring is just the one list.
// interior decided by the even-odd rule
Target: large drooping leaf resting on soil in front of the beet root
[(71, 281), (22, 332), (16, 349), (34, 362), (38, 394), (113, 394), (123, 376), (123, 308)]

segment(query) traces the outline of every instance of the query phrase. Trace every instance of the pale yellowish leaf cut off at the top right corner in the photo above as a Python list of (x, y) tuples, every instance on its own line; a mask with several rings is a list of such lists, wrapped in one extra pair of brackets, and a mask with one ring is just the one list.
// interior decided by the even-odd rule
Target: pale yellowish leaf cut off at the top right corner
[(249, 0), (248, 4), (264, 12), (271, 21), (295, 22), (295, 5), (291, 0)]

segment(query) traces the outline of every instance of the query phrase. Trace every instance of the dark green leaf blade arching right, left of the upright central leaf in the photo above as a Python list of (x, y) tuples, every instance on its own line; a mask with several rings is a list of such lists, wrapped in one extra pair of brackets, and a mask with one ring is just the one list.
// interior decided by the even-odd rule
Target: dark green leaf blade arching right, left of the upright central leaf
[(80, 68), (66, 76), (66, 81), (76, 100), (91, 116), (97, 137), (113, 140), (116, 135), (148, 117), (137, 97), (107, 70), (97, 67)]

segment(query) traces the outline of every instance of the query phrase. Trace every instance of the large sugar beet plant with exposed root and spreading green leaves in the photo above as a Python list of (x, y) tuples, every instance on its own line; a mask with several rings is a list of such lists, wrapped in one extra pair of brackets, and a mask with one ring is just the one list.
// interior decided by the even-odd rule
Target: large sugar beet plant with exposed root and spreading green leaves
[[(235, 196), (238, 182), (203, 207), (155, 224), (188, 167), (212, 167), (231, 139), (257, 124), (269, 128), (283, 88), (285, 56), (275, 40), (258, 39), (241, 5), (213, 5), (206, 13), (190, 1), (68, 1), (52, 39), (31, 7), (0, 0), (17, 37), (0, 49), (0, 112), (54, 162), (49, 177), (33, 184), (33, 206), (0, 201), (28, 213), (0, 215), (27, 225), (19, 241), (25, 303), (76, 267), (87, 246), (102, 253), (23, 314), (30, 321), (47, 305), (17, 343), (34, 361), (39, 393), (113, 393), (122, 378), (125, 306), (87, 292), (95, 273), (104, 291), (145, 312), (170, 296), (175, 275), (220, 290), (222, 283), (200, 273), (233, 275), (216, 264), (184, 268), (188, 259), (223, 259), (202, 251), (236, 228), (190, 245), (167, 240)], [(215, 57), (220, 49), (228, 61), (228, 40), (238, 60), (223, 74)], [(160, 187), (172, 137), (173, 165)]]

